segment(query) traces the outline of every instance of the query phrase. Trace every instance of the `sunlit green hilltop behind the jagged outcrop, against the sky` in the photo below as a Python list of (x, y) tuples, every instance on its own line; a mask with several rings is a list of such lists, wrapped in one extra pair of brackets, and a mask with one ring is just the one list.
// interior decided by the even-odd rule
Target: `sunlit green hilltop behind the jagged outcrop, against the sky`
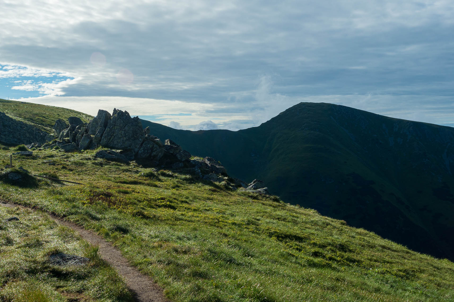
[(66, 122), (70, 116), (77, 116), (84, 122), (93, 119), (91, 115), (71, 109), (3, 99), (0, 99), (0, 111), (15, 120), (23, 121), (49, 133), (52, 132), (52, 127), (58, 119)]

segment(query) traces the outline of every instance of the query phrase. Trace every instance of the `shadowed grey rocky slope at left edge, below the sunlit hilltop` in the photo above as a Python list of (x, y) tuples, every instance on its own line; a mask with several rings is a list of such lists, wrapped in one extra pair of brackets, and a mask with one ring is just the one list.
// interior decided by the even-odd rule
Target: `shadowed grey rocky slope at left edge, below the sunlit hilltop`
[(19, 145), (34, 142), (44, 144), (48, 134), (0, 112), (0, 143), (2, 144)]

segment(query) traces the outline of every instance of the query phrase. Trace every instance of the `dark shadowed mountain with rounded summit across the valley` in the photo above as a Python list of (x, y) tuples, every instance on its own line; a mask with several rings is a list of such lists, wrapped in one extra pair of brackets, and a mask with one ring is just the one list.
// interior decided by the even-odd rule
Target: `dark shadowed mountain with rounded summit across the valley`
[(236, 132), (142, 123), (230, 175), (262, 178), (286, 202), (454, 259), (454, 128), (326, 103)]

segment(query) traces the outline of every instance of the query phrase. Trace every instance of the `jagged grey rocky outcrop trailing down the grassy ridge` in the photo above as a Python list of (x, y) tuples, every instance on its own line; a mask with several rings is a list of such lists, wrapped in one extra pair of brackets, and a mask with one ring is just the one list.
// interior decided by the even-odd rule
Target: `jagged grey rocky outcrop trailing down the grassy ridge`
[[(54, 137), (58, 141), (43, 145), (44, 148), (59, 146), (65, 152), (75, 152), (98, 147), (109, 148), (99, 150), (95, 158), (127, 163), (136, 160), (148, 166), (185, 170), (199, 179), (212, 182), (232, 182), (221, 163), (211, 157), (191, 160), (191, 153), (166, 139), (164, 143), (150, 134), (150, 128), (142, 128), (138, 117), (131, 117), (127, 111), (114, 109), (109, 114), (99, 110), (88, 124), (78, 118), (70, 117), (69, 124), (57, 120), (54, 125)], [(240, 180), (233, 180), (231, 187), (247, 187), (248, 191), (265, 193), (262, 181), (255, 180), (246, 185)], [(251, 187), (252, 186), (252, 187)]]

